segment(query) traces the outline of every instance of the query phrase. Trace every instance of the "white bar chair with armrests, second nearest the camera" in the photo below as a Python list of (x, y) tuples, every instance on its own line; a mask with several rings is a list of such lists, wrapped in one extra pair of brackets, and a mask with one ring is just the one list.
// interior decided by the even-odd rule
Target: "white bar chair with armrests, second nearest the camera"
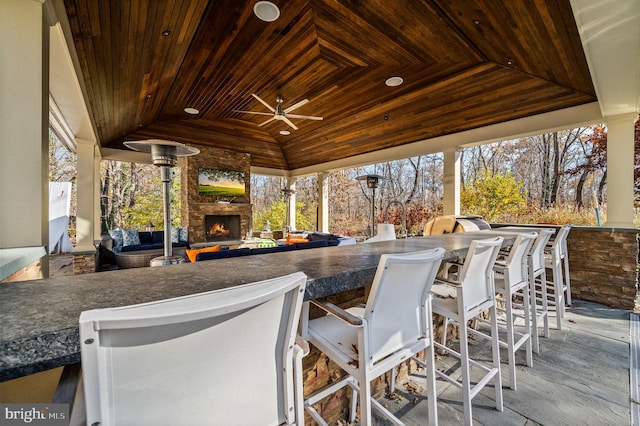
[(357, 401), (361, 425), (371, 425), (372, 406), (392, 423), (402, 424), (372, 398), (370, 382), (423, 350), (429, 424), (437, 424), (430, 290), (444, 253), (436, 248), (382, 255), (364, 306), (343, 310), (312, 301), (328, 315), (307, 321), (305, 303), (302, 337), (347, 372), (341, 381), (307, 396), (305, 408), (319, 424), (327, 423), (313, 405), (347, 385), (353, 389), (351, 422)]

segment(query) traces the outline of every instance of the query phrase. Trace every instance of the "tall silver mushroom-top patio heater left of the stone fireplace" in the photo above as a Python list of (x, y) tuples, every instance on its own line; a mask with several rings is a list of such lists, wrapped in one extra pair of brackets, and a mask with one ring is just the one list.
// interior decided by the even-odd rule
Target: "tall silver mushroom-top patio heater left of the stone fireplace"
[(160, 179), (162, 180), (163, 190), (162, 204), (164, 207), (164, 256), (151, 259), (150, 265), (164, 266), (184, 263), (184, 258), (182, 256), (173, 256), (173, 247), (171, 247), (171, 199), (169, 195), (171, 181), (173, 180), (171, 168), (178, 163), (178, 157), (196, 155), (200, 150), (179, 142), (165, 141), (161, 139), (130, 141), (125, 142), (124, 145), (135, 151), (151, 153), (153, 165), (160, 167)]

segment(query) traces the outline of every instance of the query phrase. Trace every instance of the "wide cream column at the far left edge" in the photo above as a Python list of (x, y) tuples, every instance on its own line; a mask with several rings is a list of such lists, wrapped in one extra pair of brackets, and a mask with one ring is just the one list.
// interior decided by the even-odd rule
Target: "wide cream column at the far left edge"
[[(0, 250), (49, 241), (46, 21), (43, 1), (0, 1)], [(40, 263), (47, 277), (48, 256)]]

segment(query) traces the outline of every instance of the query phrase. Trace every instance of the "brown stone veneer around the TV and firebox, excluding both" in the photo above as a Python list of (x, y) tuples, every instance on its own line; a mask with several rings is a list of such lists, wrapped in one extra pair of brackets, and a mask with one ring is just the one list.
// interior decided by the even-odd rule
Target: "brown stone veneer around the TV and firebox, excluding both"
[[(180, 158), (182, 168), (182, 226), (189, 227), (189, 242), (205, 242), (205, 215), (240, 215), (240, 235), (244, 238), (251, 232), (251, 157), (249, 154), (216, 148), (199, 147), (200, 153)], [(215, 197), (198, 194), (198, 169), (209, 167), (221, 170), (244, 172), (245, 195), (229, 204), (220, 204)]]

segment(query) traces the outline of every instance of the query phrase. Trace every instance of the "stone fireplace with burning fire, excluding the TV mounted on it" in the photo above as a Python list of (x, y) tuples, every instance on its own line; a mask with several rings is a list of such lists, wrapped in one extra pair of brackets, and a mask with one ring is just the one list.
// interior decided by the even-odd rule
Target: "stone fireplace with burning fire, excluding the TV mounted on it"
[[(182, 226), (189, 227), (189, 242), (234, 244), (250, 236), (253, 219), (249, 154), (200, 147), (200, 154), (179, 161), (182, 169)], [(200, 195), (198, 169), (202, 167), (244, 172), (245, 195), (232, 201)]]

